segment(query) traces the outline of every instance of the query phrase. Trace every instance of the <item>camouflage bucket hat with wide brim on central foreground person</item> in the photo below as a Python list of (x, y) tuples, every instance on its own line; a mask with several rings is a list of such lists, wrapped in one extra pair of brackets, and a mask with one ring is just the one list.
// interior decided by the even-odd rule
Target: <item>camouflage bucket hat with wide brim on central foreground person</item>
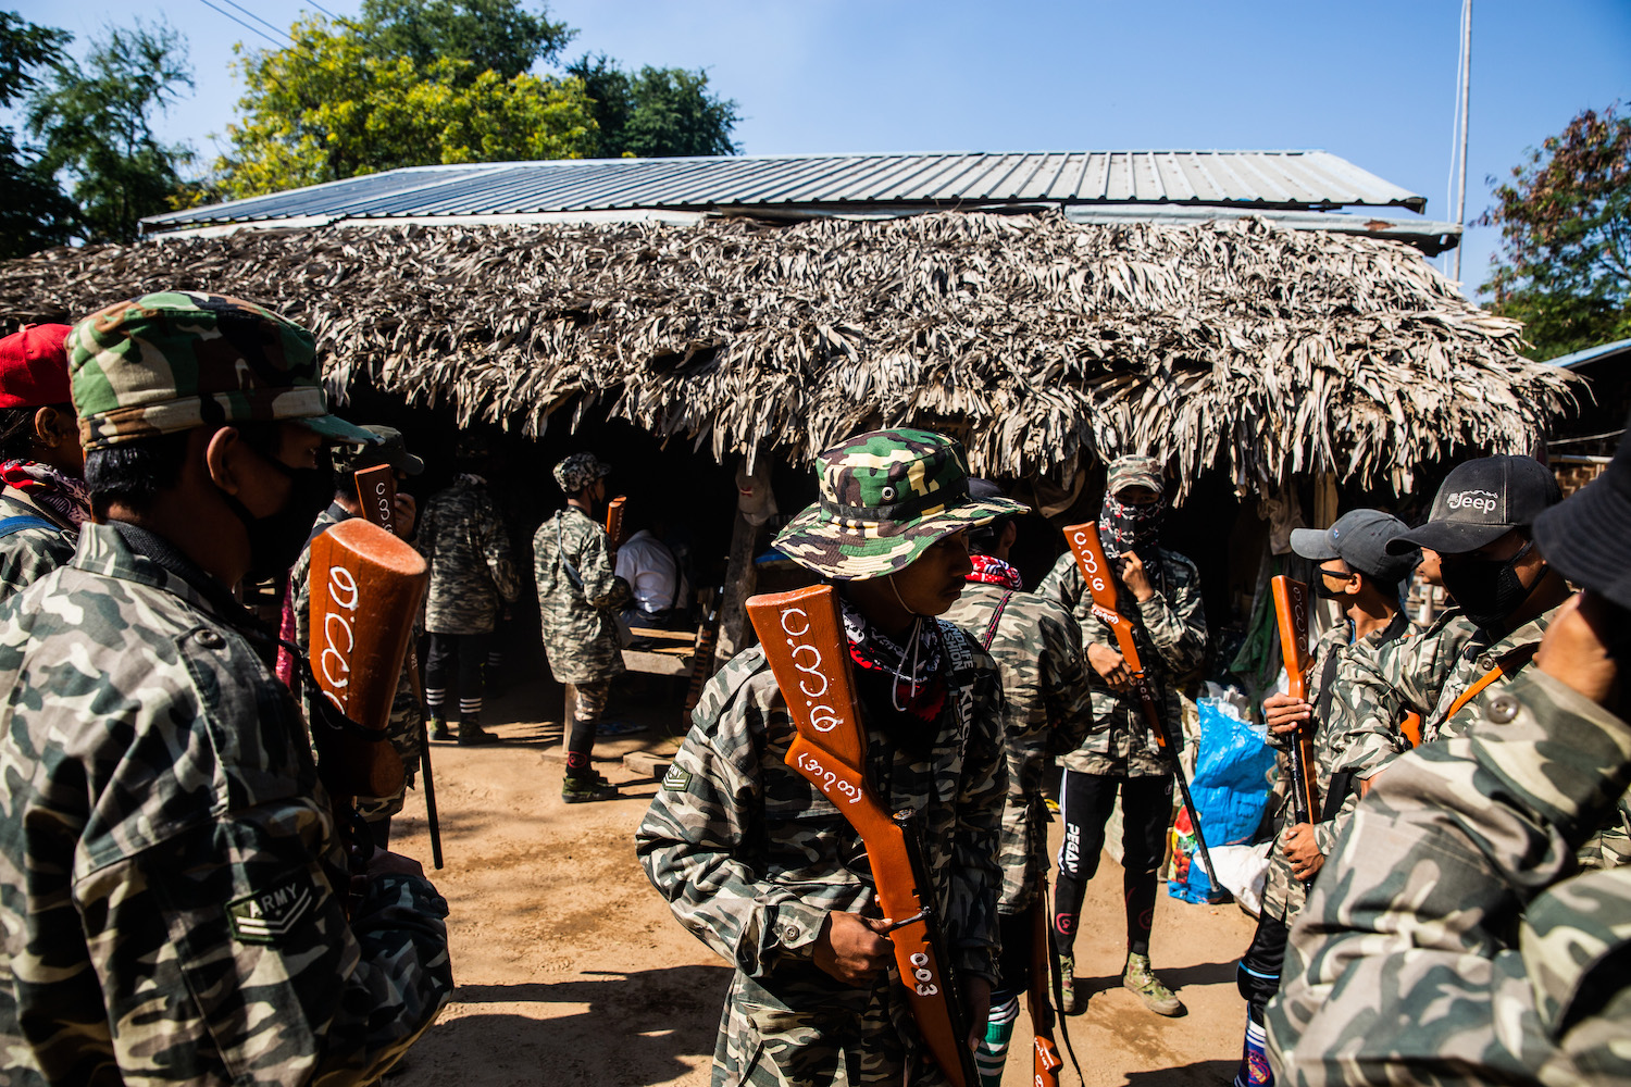
[(776, 549), (837, 582), (886, 577), (946, 536), (1026, 507), (969, 497), (962, 447), (928, 430), (873, 430), (820, 455), (820, 500)]

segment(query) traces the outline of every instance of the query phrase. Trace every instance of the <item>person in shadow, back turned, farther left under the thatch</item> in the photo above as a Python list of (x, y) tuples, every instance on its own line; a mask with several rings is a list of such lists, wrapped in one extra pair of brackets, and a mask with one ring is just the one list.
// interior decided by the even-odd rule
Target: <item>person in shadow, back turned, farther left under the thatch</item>
[(431, 652), (424, 662), (424, 704), (431, 738), (452, 740), (447, 727), (449, 689), (458, 698), (458, 742), (497, 740), (481, 727), (483, 668), (488, 642), (504, 605), (520, 595), (504, 517), (483, 474), (493, 448), (473, 433), (458, 435), (453, 486), (437, 491), (419, 517), (416, 546), (431, 566), (424, 629)]

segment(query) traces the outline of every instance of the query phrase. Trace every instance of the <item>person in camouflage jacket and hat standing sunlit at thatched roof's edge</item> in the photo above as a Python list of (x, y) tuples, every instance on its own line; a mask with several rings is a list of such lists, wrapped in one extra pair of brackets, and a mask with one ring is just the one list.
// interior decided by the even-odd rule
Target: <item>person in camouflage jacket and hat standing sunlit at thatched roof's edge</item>
[(555, 466), (566, 508), (532, 538), (543, 647), (550, 673), (572, 691), (561, 800), (617, 800), (617, 786), (594, 768), (595, 727), (623, 675), (617, 613), (630, 600), (628, 582), (612, 569), (612, 546), (600, 526), (605, 477), (612, 471), (594, 453), (572, 453)]

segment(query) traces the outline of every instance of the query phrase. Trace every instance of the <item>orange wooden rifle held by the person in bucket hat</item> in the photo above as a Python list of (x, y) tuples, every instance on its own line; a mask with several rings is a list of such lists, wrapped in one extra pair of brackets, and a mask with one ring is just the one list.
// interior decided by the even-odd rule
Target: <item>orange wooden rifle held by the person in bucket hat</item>
[(850, 684), (838, 596), (832, 585), (762, 595), (747, 601), (747, 614), (798, 727), (788, 766), (838, 807), (866, 846), (877, 903), (895, 921), (889, 939), (918, 1033), (954, 1087), (979, 1087), (917, 812), (891, 815), (866, 781), (866, 725)]

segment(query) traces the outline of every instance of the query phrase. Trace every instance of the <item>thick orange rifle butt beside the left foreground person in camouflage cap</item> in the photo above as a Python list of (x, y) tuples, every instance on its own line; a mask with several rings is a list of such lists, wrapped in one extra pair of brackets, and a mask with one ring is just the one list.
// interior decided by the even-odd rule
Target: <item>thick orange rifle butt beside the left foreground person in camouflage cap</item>
[[(403, 761), (385, 740), (396, 678), (431, 574), (419, 552), (378, 525), (352, 518), (312, 541), (312, 673), (323, 698), (349, 719), (320, 735), (323, 782), (336, 815), (354, 797), (388, 797), (403, 786)], [(343, 826), (347, 826), (343, 823)], [(352, 898), (372, 839), (352, 838)]]

